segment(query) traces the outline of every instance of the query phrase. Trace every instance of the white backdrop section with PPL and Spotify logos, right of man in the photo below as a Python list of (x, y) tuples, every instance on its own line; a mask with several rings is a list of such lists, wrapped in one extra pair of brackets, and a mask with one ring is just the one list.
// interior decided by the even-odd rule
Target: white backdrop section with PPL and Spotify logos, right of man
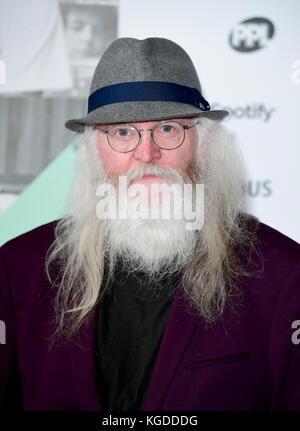
[(120, 36), (166, 37), (231, 115), (245, 158), (247, 208), (300, 241), (300, 2), (121, 1)]

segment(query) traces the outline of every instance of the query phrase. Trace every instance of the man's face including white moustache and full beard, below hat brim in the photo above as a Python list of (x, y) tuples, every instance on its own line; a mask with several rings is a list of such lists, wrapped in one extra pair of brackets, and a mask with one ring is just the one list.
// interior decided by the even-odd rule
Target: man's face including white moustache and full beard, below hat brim
[[(194, 118), (173, 120), (182, 125), (195, 124)], [(153, 129), (160, 122), (146, 121), (131, 124), (137, 130), (141, 130)], [(99, 124), (99, 127), (107, 130), (109, 125)], [(118, 136), (122, 136), (124, 131), (130, 133), (129, 130), (117, 128), (116, 133), (120, 132)], [(163, 128), (157, 130), (158, 133), (164, 132)], [(173, 133), (176, 133), (176, 130), (178, 131), (175, 128)], [(165, 132), (170, 132), (168, 125)], [(128, 136), (126, 133), (125, 136)], [(107, 201), (108, 206), (113, 202), (111, 205), (113, 216), (105, 219), (104, 223), (108, 232), (110, 253), (114, 256), (121, 256), (130, 265), (133, 262), (134, 267), (138, 265), (148, 273), (151, 279), (151, 277), (158, 277), (158, 274), (163, 274), (166, 269), (161, 272), (162, 268), (169, 267), (172, 271), (174, 269), (179, 270), (190, 258), (195, 247), (197, 236), (194, 231), (186, 228), (187, 215), (184, 209), (181, 211), (182, 205), (186, 204), (188, 198), (192, 198), (193, 194), (186, 191), (185, 195), (180, 197), (181, 194), (178, 193), (180, 187), (164, 187), (160, 193), (152, 185), (154, 183), (166, 183), (169, 186), (171, 184), (182, 186), (182, 184), (199, 182), (199, 177), (197, 177), (198, 131), (195, 126), (185, 129), (184, 141), (177, 148), (171, 150), (157, 147), (152, 140), (151, 131), (143, 130), (140, 134), (138, 146), (127, 153), (114, 151), (107, 142), (106, 134), (102, 132), (96, 135), (96, 144), (101, 160), (101, 171), (104, 170), (104, 173), (107, 174), (109, 181), (117, 191), (118, 197), (117, 204), (115, 194), (109, 196)], [(112, 136), (115, 136), (113, 132)], [(180, 142), (180, 136), (180, 134), (175, 135), (175, 137), (172, 134), (171, 137), (156, 135), (156, 138), (160, 139), (161, 143), (163, 139), (169, 140), (172, 137), (173, 141)], [(125, 141), (125, 143), (129, 145), (128, 142)], [(164, 143), (166, 145), (166, 141)], [(126, 190), (120, 187), (120, 176), (127, 176)], [(101, 178), (100, 182), (105, 180), (101, 175), (99, 177)], [(138, 187), (135, 188), (136, 183), (138, 183)], [(144, 187), (139, 187), (140, 185)], [(140, 192), (141, 189), (147, 193), (144, 195)], [(125, 204), (124, 206), (124, 200), (119, 198), (126, 198), (127, 191), (128, 201), (125, 199), (125, 202), (128, 205)], [(192, 208), (191, 205), (188, 206)], [(119, 217), (120, 208), (126, 211), (125, 217)], [(138, 214), (128, 210), (128, 208), (137, 210)], [(140, 217), (142, 213), (147, 214), (147, 216), (145, 218)], [(166, 213), (167, 217), (165, 217)], [(156, 217), (157, 214), (158, 218)], [(178, 214), (181, 216), (177, 217)], [(98, 218), (101, 219), (101, 216)]]

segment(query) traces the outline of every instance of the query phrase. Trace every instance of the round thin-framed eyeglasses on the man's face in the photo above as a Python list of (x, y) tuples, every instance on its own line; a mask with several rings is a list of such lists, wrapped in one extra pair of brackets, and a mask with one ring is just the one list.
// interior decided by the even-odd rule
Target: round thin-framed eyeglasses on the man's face
[(150, 131), (154, 144), (162, 150), (174, 150), (184, 141), (185, 130), (199, 124), (195, 121), (186, 126), (178, 121), (161, 121), (153, 129), (137, 129), (132, 124), (113, 124), (108, 129), (101, 129), (94, 126), (95, 129), (107, 136), (107, 142), (110, 147), (119, 153), (128, 153), (133, 151), (140, 143), (141, 132)]

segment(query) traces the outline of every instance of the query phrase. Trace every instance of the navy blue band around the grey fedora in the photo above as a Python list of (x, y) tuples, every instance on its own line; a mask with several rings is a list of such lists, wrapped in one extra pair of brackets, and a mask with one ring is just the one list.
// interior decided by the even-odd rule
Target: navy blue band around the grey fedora
[(196, 88), (161, 81), (123, 82), (94, 91), (88, 100), (88, 113), (101, 106), (120, 102), (180, 102), (209, 111), (209, 103)]

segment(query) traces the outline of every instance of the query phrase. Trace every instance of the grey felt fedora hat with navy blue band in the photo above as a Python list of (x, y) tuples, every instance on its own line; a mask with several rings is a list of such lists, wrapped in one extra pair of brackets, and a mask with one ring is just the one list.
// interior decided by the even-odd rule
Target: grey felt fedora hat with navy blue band
[(88, 113), (65, 126), (133, 123), (168, 118), (222, 120), (227, 111), (210, 110), (188, 54), (163, 38), (120, 38), (101, 57), (90, 88)]

